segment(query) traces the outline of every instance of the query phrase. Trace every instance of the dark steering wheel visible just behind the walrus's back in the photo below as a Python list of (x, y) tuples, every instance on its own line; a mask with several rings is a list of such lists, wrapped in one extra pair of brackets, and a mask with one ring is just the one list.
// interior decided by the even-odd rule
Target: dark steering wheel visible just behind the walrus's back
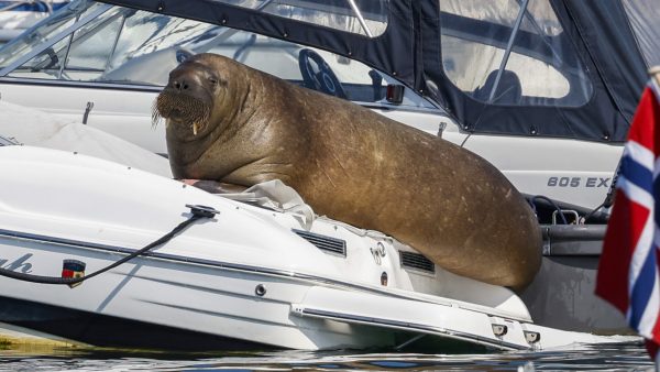
[[(314, 64), (310, 59), (314, 61)], [(301, 50), (298, 55), (298, 66), (302, 74), (302, 85), (306, 88), (346, 99), (346, 92), (337, 75), (318, 53), (312, 50)]]

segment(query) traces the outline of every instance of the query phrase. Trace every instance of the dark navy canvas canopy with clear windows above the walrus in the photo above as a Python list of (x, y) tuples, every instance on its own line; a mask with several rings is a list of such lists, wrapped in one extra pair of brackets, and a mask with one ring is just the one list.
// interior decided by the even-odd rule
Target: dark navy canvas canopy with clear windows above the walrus
[[(660, 62), (660, 6), (653, 0), (103, 2), (361, 61), (475, 133), (624, 141), (646, 72)], [(331, 17), (322, 22), (319, 14)], [(332, 17), (353, 15), (358, 31), (332, 23)], [(370, 30), (374, 24), (386, 26)]]

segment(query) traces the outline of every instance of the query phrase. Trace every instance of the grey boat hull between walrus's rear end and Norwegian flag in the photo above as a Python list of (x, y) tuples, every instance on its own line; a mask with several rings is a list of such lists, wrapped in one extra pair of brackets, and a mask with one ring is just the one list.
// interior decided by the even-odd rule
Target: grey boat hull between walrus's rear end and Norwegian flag
[(630, 333), (624, 315), (595, 294), (605, 225), (543, 226), (543, 260), (521, 293), (534, 320), (604, 335)]

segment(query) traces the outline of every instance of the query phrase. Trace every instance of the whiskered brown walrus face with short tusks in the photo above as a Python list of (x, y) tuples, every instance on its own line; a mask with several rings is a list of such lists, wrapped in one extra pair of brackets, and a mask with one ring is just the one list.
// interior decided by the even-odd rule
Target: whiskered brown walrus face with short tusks
[(220, 85), (218, 73), (195, 58), (184, 62), (169, 73), (169, 81), (158, 95), (153, 109), (153, 124), (167, 120), (182, 142), (194, 141), (211, 130), (209, 120)]

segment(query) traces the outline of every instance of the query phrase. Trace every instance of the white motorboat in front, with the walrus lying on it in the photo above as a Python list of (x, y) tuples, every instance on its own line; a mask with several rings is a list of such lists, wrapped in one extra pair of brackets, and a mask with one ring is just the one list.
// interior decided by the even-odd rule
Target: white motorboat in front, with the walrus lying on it
[(12, 273), (58, 277), (76, 260), (89, 275), (188, 219), (189, 205), (215, 214), (73, 288), (0, 278), (0, 314), (15, 326), (97, 346), (201, 349), (620, 340), (538, 326), (513, 292), (450, 274), (375, 231), (314, 218), (290, 200), (288, 210), (255, 205), (286, 193), (276, 183), (238, 201), (19, 145), (0, 146), (0, 195), (12, 196), (0, 201), (0, 266)]

